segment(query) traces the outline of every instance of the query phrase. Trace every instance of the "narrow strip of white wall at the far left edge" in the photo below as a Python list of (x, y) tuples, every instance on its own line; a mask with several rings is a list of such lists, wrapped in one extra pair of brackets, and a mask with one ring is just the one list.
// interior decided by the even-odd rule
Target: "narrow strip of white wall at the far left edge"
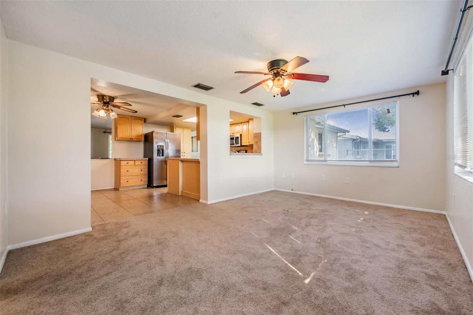
[(7, 102), (8, 102), (8, 39), (0, 21), (0, 271), (7, 254), (8, 217), (5, 204), (7, 188)]

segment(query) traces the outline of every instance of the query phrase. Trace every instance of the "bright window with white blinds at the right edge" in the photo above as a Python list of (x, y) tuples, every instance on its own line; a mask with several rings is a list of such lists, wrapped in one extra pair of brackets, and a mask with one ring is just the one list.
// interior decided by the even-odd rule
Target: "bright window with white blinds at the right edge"
[(455, 69), (455, 166), (473, 172), (473, 44), (470, 38)]

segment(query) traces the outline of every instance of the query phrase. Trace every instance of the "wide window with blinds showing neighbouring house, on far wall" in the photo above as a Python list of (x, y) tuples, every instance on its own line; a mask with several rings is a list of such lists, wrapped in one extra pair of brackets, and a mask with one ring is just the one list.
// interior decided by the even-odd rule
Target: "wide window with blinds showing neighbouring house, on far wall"
[(306, 116), (307, 164), (398, 166), (398, 102)]

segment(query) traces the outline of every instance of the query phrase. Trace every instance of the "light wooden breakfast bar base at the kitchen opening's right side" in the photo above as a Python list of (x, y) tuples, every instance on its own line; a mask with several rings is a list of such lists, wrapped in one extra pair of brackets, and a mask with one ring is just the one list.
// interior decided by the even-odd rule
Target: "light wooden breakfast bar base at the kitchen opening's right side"
[(201, 162), (199, 158), (167, 158), (167, 192), (201, 199)]

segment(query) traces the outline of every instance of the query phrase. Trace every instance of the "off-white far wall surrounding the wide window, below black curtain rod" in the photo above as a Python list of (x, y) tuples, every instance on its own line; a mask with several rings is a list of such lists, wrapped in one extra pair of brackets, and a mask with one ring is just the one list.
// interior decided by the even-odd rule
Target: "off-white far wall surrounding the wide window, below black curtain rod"
[[(300, 110), (409, 93), (418, 88), (420, 96), (399, 98), (399, 167), (304, 165), (304, 117), (317, 112), (292, 115), (298, 109), (275, 114), (275, 188), (444, 211), (444, 84), (412, 87), (405, 91), (341, 100)], [(266, 141), (262, 144), (264, 148)], [(282, 173), (286, 174), (286, 178), (282, 178)], [(294, 178), (290, 178), (290, 173), (294, 173)], [(321, 175), (326, 176), (324, 181)], [(350, 184), (345, 184), (345, 177), (350, 177)]]

